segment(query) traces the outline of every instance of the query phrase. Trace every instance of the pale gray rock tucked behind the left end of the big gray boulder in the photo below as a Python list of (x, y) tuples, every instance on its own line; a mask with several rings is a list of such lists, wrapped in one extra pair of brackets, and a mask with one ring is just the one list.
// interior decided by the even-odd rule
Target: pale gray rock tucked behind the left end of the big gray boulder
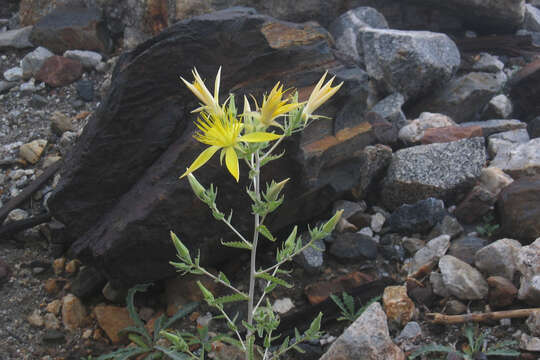
[[(358, 63), (364, 62), (362, 31), (365, 28), (388, 29), (384, 16), (371, 7), (359, 7), (347, 11), (330, 25), (336, 47)], [(360, 38), (360, 40), (359, 40)]]

